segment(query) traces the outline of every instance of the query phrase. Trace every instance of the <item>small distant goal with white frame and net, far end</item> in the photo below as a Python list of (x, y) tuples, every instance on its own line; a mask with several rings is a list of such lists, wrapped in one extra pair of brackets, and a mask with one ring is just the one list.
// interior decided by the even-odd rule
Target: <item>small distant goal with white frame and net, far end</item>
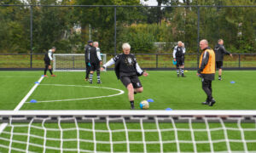
[[(101, 54), (102, 63), (107, 61), (107, 54)], [(84, 54), (54, 54), (53, 71), (85, 71)]]

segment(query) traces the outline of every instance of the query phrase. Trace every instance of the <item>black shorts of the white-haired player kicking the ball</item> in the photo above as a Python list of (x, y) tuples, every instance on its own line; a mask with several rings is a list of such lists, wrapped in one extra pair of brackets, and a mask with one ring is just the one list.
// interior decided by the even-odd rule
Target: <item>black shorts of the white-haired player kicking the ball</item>
[(124, 84), (125, 88), (131, 83), (133, 88), (142, 88), (143, 85), (137, 76), (123, 76), (120, 78), (121, 82)]

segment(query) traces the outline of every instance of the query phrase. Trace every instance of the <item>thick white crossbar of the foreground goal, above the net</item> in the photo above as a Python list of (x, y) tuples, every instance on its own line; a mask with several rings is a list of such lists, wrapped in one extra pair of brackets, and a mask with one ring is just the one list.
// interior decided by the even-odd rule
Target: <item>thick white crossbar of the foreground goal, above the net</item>
[(201, 121), (204, 117), (217, 118), (220, 117), (225, 121), (233, 121), (241, 118), (247, 122), (255, 122), (256, 111), (0, 111), (0, 122), (8, 122), (10, 118), (15, 122), (29, 121), (31, 117), (49, 117), (55, 120), (56, 117), (79, 117), (80, 120), (90, 120), (94, 118), (96, 121), (104, 121), (106, 117), (119, 118), (125, 117), (127, 120), (153, 120), (154, 116), (158, 118), (172, 117), (176, 120), (192, 119)]

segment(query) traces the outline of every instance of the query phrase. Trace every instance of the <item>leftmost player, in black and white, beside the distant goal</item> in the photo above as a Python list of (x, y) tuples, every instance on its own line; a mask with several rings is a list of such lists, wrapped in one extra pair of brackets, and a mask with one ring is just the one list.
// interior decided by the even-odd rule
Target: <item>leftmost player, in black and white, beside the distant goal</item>
[(48, 77), (46, 75), (47, 70), (49, 69), (49, 73), (51, 77), (55, 77), (55, 75), (52, 73), (52, 66), (50, 65), (50, 61), (54, 61), (53, 60), (53, 54), (55, 53), (56, 48), (52, 47), (51, 49), (49, 49), (49, 51), (44, 55), (44, 64), (45, 64), (45, 68), (44, 68), (44, 77)]

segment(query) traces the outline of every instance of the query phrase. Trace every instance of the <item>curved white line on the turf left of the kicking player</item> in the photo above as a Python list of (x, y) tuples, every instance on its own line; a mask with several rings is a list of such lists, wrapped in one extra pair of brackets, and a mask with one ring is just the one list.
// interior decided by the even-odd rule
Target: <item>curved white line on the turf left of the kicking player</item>
[[(40, 84), (40, 86), (67, 86), (67, 87), (82, 87), (82, 88), (104, 88), (104, 87), (95, 87), (95, 86), (80, 86), (80, 85), (65, 85), (65, 84)], [(81, 99), (57, 99), (57, 100), (44, 100), (44, 101), (37, 101), (37, 103), (46, 103), (46, 102), (56, 102), (56, 101), (72, 101), (72, 100), (83, 100), (83, 99), (101, 99), (105, 97), (113, 97), (118, 96), (120, 94), (124, 94), (125, 92), (123, 90), (120, 90), (118, 88), (105, 88), (110, 90), (116, 90), (119, 91), (118, 94), (111, 94), (106, 96), (97, 96), (97, 97), (87, 97), (87, 98), (81, 98)], [(26, 102), (30, 103), (30, 102)]]

